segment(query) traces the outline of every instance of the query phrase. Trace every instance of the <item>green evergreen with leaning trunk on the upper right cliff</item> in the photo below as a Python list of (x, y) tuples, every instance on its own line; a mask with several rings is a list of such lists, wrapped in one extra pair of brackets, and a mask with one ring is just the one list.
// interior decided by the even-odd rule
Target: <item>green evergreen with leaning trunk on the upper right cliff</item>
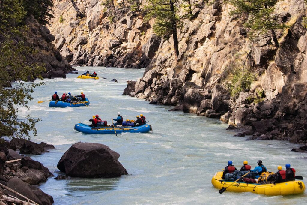
[(253, 41), (261, 38), (272, 37), (276, 47), (279, 47), (275, 30), (285, 28), (276, 18), (274, 13), (278, 0), (227, 0), (235, 6), (231, 15), (247, 15), (245, 27), (249, 30), (248, 37)]

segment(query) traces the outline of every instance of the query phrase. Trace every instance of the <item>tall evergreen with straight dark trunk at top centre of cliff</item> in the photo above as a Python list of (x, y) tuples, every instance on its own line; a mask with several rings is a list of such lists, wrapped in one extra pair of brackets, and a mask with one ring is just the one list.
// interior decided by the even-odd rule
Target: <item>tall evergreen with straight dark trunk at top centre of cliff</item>
[(176, 59), (179, 56), (177, 29), (182, 28), (182, 18), (178, 15), (178, 0), (149, 0), (144, 6), (145, 19), (148, 21), (155, 18), (153, 31), (163, 38), (173, 35), (174, 50)]

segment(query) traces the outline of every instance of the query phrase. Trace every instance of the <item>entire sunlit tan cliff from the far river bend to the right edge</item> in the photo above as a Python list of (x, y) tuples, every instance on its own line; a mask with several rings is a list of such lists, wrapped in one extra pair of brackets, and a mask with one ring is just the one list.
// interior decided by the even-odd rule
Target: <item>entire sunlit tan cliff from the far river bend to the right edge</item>
[[(232, 18), (233, 8), (223, 1), (191, 3), (198, 6), (192, 6), (194, 17), (178, 30), (177, 59), (172, 37), (165, 40), (153, 34), (153, 22), (144, 23), (141, 13), (114, 11), (98, 0), (76, 1), (86, 14), (82, 19), (70, 1), (56, 0), (49, 29), (56, 36), (56, 48), (72, 65), (146, 68), (141, 79), (128, 82), (126, 95), (220, 118), (236, 127), (239, 136), (305, 143), (304, 1), (277, 3), (276, 18), (289, 26), (276, 32), (279, 48), (271, 37), (251, 44), (243, 20)], [(234, 97), (224, 79), (237, 60), (251, 67), (257, 79)]]

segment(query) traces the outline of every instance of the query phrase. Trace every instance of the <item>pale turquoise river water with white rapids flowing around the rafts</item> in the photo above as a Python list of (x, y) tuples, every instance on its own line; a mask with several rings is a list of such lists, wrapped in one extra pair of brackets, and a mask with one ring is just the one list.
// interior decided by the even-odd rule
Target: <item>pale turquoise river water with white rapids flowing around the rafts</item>
[[(134, 97), (122, 96), (127, 80), (142, 77), (144, 69), (77, 67), (79, 73), (94, 70), (100, 78), (77, 79), (67, 74), (66, 79), (45, 79), (45, 85), (35, 89), (30, 111), (20, 109), (20, 116), (31, 114), (42, 118), (37, 123), (34, 142), (55, 145), (55, 150), (43, 155), (29, 155), (55, 175), (56, 165), (68, 148), (76, 142), (94, 142), (109, 146), (120, 154), (119, 162), (129, 175), (113, 179), (49, 178), (40, 188), (53, 196), (55, 204), (307, 204), (303, 195), (262, 196), (252, 193), (224, 192), (211, 184), (212, 176), (232, 160), (239, 169), (243, 160), (252, 168), (258, 160), (269, 171), (290, 163), (297, 175), (307, 177), (307, 155), (290, 152), (298, 147), (284, 141), (246, 141), (234, 137), (227, 124), (217, 119), (199, 117), (183, 112), (167, 112), (172, 107), (152, 105)], [(118, 83), (110, 82), (113, 78)], [(84, 92), (89, 107), (51, 108), (48, 102), (54, 91), (80, 95)], [(90, 124), (92, 115), (99, 114), (111, 124), (121, 112), (124, 119), (146, 116), (153, 133), (124, 133), (115, 135), (85, 135), (74, 130), (78, 122)], [(306, 183), (306, 181), (305, 181)]]

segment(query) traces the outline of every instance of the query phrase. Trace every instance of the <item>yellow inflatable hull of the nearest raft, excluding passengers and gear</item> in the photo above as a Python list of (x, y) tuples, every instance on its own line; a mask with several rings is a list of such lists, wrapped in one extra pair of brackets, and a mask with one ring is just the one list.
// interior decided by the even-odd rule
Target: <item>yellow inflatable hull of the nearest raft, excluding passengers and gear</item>
[[(222, 179), (223, 171), (216, 172), (212, 177), (211, 183), (214, 187), (221, 189), (228, 187), (233, 182), (224, 181)], [(255, 194), (264, 194), (268, 196), (277, 196), (277, 195), (292, 195), (292, 194), (301, 194), (305, 191), (305, 184), (302, 181), (288, 181), (284, 183), (277, 184), (255, 184), (255, 183), (244, 183), (237, 182), (232, 186), (227, 188), (227, 191), (233, 192), (252, 192)]]

